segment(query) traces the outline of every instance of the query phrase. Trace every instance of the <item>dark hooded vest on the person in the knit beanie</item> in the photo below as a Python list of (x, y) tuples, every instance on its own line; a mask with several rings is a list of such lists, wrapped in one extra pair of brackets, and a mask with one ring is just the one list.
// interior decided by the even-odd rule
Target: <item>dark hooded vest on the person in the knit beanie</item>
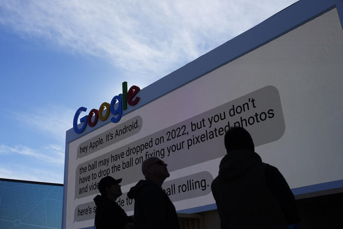
[(275, 171), (269, 166), (273, 167), (263, 163), (257, 153), (247, 150), (231, 151), (221, 160), (219, 174), (211, 185), (221, 229), (287, 228), (282, 206), (273, 193), (278, 190), (269, 190), (273, 185), (266, 182), (265, 171)]

